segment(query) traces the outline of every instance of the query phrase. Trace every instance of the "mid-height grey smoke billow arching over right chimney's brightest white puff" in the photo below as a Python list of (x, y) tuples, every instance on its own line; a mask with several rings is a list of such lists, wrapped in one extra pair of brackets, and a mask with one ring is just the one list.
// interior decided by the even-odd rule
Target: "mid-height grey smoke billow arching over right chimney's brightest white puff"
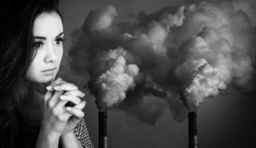
[[(202, 36), (202, 37), (201, 37)], [(226, 83), (231, 81), (232, 49), (225, 38), (212, 28), (204, 28), (199, 36), (192, 36), (183, 46), (186, 59), (205, 58), (213, 65)]]

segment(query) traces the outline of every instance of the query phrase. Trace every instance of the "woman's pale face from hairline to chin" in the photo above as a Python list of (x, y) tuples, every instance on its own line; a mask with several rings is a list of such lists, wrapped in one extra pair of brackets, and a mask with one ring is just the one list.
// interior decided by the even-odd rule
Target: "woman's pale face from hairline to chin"
[(57, 75), (63, 56), (63, 23), (57, 13), (42, 13), (33, 24), (33, 48), (36, 52), (26, 78), (48, 83)]

